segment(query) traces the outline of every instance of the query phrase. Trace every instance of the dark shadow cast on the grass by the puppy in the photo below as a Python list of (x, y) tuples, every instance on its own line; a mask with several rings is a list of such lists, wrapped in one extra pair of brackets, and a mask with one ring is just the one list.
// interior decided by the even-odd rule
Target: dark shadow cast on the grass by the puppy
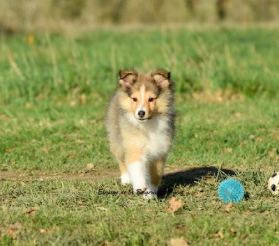
[(174, 191), (174, 187), (178, 185), (192, 186), (196, 185), (196, 181), (204, 176), (224, 178), (236, 175), (235, 171), (230, 169), (218, 169), (216, 167), (194, 167), (182, 171), (176, 171), (171, 174), (165, 174), (158, 191), (158, 198), (169, 197)]

